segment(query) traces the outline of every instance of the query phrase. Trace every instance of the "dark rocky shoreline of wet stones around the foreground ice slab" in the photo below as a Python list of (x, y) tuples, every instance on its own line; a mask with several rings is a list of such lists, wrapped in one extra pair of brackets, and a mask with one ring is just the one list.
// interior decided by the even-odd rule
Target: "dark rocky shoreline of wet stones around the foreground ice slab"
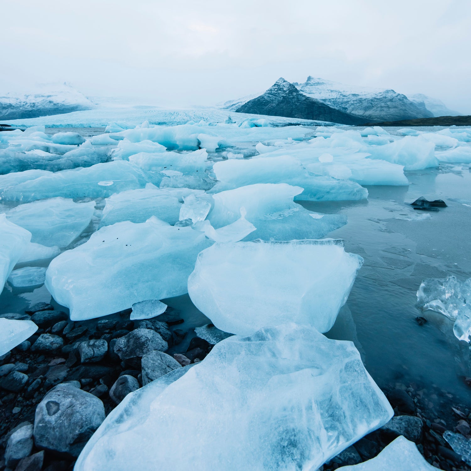
[[(171, 309), (153, 319), (131, 321), (127, 310), (90, 323), (71, 322), (65, 312), (40, 303), (24, 314), (2, 317), (31, 318), (39, 330), (0, 357), (1, 471), (72, 470), (94, 430), (129, 392), (198, 363), (211, 351), (211, 342), (227, 336), (209, 325), (205, 333), (197, 332), (207, 340), (194, 337), (179, 351), (188, 343), (182, 343), (187, 333)], [(164, 353), (168, 348), (177, 352)], [(321, 469), (371, 459), (403, 435), (433, 466), (471, 470), (443, 438), (446, 430), (471, 438), (471, 414), (464, 404), (454, 404), (446, 391), (417, 384), (396, 383), (383, 392), (394, 408), (391, 421)]]

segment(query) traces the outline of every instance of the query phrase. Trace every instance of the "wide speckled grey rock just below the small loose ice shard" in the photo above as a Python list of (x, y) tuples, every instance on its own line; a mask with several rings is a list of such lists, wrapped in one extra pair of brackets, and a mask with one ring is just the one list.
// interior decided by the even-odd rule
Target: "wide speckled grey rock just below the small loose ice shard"
[(168, 344), (161, 335), (150, 329), (136, 329), (124, 337), (120, 337), (114, 344), (114, 352), (125, 360), (133, 357), (142, 357), (152, 350), (165, 351)]

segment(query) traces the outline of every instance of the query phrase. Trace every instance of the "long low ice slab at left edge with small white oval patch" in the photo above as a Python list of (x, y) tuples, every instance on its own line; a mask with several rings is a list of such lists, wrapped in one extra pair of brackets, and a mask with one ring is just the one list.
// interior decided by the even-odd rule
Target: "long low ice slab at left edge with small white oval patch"
[(56, 196), (106, 198), (121, 191), (144, 188), (148, 181), (158, 184), (160, 180), (161, 177), (157, 177), (152, 181), (148, 174), (130, 162), (97, 163), (88, 168), (63, 170), (23, 181), (5, 188), (0, 198), (24, 203)]

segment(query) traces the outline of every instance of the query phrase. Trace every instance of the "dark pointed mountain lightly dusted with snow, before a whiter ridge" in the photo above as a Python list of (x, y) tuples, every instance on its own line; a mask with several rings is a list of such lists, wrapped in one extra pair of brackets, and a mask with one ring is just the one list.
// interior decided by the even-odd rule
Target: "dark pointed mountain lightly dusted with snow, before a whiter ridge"
[(341, 124), (364, 124), (362, 117), (344, 113), (325, 103), (301, 93), (291, 82), (280, 77), (265, 93), (252, 98), (241, 106), (237, 113), (266, 114)]

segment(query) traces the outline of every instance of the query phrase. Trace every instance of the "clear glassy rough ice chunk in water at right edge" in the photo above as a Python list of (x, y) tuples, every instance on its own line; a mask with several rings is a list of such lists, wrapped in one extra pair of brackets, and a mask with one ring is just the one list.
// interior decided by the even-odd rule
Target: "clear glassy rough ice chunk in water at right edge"
[[(471, 278), (460, 282), (455, 276), (428, 278), (417, 290), (417, 306), (422, 311), (439, 312), (455, 322), (453, 332), (459, 340), (471, 339)], [(467, 302), (468, 300), (468, 302)]]

